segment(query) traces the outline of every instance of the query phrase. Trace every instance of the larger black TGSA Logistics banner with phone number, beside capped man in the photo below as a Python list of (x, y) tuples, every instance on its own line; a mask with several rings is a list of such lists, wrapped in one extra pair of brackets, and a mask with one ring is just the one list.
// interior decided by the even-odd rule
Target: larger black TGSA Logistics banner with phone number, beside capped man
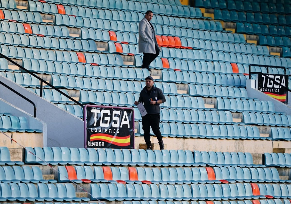
[(132, 108), (87, 106), (87, 148), (133, 148), (134, 111)]

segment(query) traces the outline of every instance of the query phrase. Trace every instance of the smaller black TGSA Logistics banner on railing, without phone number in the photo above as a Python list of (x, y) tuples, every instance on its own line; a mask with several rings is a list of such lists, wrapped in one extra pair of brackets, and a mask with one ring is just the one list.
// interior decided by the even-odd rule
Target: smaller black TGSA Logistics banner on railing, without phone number
[[(264, 92), (268, 96), (277, 99), (283, 103), (287, 103), (287, 93), (288, 90), (288, 75), (283, 74), (266, 74), (268, 77), (265, 77), (262, 74), (257, 74), (257, 89), (261, 92)], [(275, 84), (274, 81), (278, 82), (280, 85)]]

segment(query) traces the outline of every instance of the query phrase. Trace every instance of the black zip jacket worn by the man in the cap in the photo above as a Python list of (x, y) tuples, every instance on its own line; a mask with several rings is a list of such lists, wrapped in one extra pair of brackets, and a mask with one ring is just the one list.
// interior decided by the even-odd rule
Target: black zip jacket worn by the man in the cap
[(157, 97), (158, 100), (162, 100), (162, 102), (166, 102), (166, 98), (162, 92), (161, 89), (152, 86), (152, 89), (150, 91), (150, 96), (148, 95), (147, 88), (144, 87), (143, 90), (141, 90), (141, 93), (139, 94), (139, 102), (143, 103), (143, 106), (145, 107), (145, 110), (148, 112), (148, 114), (157, 114), (160, 113), (160, 105), (151, 105), (150, 99), (155, 101), (155, 97)]

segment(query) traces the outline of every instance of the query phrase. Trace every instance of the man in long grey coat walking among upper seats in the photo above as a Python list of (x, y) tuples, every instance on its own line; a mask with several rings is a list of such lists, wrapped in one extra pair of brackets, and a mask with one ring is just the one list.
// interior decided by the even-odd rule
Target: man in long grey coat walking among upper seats
[(145, 17), (139, 22), (139, 52), (143, 52), (142, 68), (150, 70), (150, 63), (156, 59), (160, 53), (160, 48), (156, 39), (156, 32), (150, 20), (153, 13), (148, 10)]

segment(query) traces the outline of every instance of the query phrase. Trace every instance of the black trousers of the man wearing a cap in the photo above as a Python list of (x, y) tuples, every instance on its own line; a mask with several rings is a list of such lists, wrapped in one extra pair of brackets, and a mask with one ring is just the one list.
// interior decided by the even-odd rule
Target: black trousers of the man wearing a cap
[(150, 143), (150, 127), (157, 137), (158, 141), (162, 141), (162, 135), (160, 132), (160, 114), (147, 114), (142, 117), (141, 123), (143, 124), (143, 138), (145, 139), (145, 144), (151, 146)]

